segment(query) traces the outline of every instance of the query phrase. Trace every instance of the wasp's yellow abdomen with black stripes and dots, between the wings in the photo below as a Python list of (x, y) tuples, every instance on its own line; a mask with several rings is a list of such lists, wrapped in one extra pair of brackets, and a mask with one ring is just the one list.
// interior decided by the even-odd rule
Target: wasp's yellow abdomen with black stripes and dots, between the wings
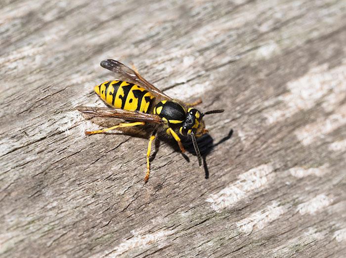
[(123, 81), (106, 81), (94, 87), (95, 92), (114, 108), (148, 113), (154, 95), (148, 90)]

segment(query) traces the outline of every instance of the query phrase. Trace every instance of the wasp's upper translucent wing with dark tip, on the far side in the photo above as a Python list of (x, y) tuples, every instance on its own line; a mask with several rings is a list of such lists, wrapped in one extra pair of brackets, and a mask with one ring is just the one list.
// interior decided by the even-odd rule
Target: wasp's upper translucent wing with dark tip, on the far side
[(136, 73), (126, 65), (122, 64), (121, 62), (118, 62), (113, 59), (107, 59), (101, 61), (100, 65), (103, 68), (108, 69), (109, 71), (112, 71), (114, 73), (120, 74), (125, 77), (125, 79), (130, 79), (130, 81), (133, 81), (134, 83), (146, 88), (147, 90), (153, 92), (156, 95), (159, 95), (161, 97), (164, 97), (165, 99), (172, 100), (171, 97), (167, 96), (164, 92), (162, 92), (157, 87), (150, 84), (147, 80), (145, 80), (140, 74)]

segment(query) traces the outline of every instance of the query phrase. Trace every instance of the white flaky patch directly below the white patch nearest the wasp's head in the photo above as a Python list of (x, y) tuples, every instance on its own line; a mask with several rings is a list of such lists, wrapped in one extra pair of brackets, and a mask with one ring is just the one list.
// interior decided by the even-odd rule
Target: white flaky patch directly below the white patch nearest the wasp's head
[(244, 218), (236, 222), (236, 226), (240, 231), (251, 234), (254, 228), (263, 229), (270, 222), (276, 220), (279, 216), (283, 215), (287, 209), (274, 201), (271, 205), (268, 205), (263, 210), (251, 214), (247, 218)]

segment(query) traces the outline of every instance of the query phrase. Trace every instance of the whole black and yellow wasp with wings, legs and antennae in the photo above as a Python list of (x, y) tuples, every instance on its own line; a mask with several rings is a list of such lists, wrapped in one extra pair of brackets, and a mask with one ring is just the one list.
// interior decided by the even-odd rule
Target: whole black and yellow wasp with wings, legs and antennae
[[(173, 99), (146, 81), (137, 72), (116, 60), (103, 60), (100, 65), (119, 76), (119, 80), (106, 81), (94, 87), (95, 92), (111, 107), (79, 106), (77, 109), (87, 115), (119, 118), (125, 120), (125, 122), (106, 129), (86, 131), (86, 134), (102, 133), (126, 127), (150, 126), (152, 135), (149, 139), (146, 155), (147, 172), (144, 182), (149, 179), (151, 143), (158, 133), (165, 132), (173, 137), (181, 152), (185, 152), (185, 149), (179, 134), (190, 136), (198, 158), (198, 164), (201, 166), (202, 158), (196, 137), (207, 132), (203, 117), (208, 114), (221, 113), (224, 110), (200, 112), (193, 107), (200, 104), (201, 100), (194, 103), (184, 103)], [(124, 80), (120, 80), (121, 78)]]

